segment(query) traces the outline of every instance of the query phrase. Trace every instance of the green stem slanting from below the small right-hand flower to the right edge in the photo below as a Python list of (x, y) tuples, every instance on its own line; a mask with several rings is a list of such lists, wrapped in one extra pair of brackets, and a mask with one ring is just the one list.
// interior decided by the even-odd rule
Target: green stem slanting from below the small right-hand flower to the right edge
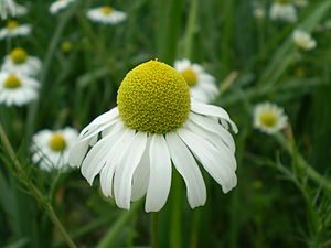
[(299, 169), (305, 171), (317, 184), (321, 184), (327, 190), (331, 191), (331, 182), (324, 176), (320, 175), (296, 150), (295, 141), (288, 141), (281, 133), (275, 136), (276, 140), (288, 151), (292, 159), (298, 162)]

